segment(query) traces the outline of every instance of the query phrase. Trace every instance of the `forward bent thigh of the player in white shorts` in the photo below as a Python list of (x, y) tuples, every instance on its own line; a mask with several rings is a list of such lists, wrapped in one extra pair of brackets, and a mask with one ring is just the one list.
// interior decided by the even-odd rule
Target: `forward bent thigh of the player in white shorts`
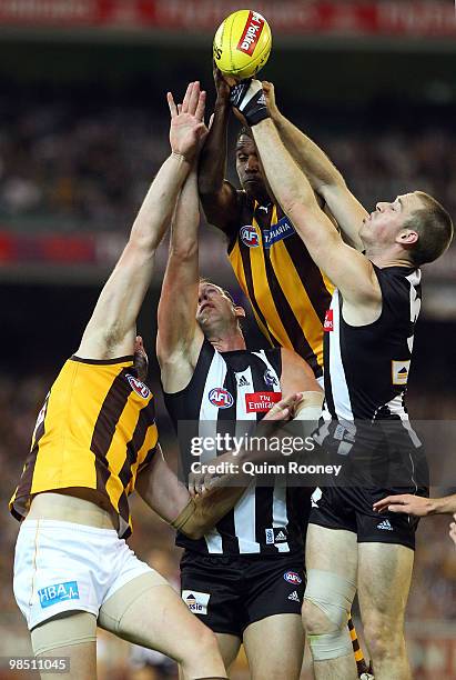
[[(150, 577), (150, 578), (148, 578)], [(171, 586), (140, 576), (103, 602), (99, 626), (178, 662), (211, 644), (213, 633), (196, 619)], [(215, 643), (215, 638), (214, 638)]]

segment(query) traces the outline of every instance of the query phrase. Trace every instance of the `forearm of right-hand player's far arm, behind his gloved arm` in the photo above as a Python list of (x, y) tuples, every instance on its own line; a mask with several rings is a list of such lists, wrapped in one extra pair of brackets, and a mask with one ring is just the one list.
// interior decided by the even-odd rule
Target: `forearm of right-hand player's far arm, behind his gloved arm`
[(276, 112), (272, 118), (283, 143), (315, 191), (321, 191), (324, 186), (345, 186), (341, 172), (312, 139), (282, 113)]

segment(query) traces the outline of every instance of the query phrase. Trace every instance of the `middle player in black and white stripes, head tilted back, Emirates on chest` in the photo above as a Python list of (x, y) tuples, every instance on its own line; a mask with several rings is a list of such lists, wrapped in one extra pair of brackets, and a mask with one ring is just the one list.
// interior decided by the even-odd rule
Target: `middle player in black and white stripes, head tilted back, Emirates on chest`
[[(172, 99), (170, 110), (174, 117)], [(244, 310), (220, 287), (200, 282), (199, 221), (194, 169), (174, 216), (159, 304), (158, 358), (175, 428), (196, 421), (206, 436), (233, 433), (236, 421), (255, 423), (282, 396), (297, 392), (304, 393), (300, 416), (317, 419), (323, 396), (306, 362), (287, 349), (249, 351), (239, 326)], [(190, 448), (182, 454), (189, 467)], [(310, 492), (252, 484), (203, 538), (178, 534), (185, 548), (182, 598), (217, 633), (227, 669), (243, 642), (253, 677), (300, 677)]]

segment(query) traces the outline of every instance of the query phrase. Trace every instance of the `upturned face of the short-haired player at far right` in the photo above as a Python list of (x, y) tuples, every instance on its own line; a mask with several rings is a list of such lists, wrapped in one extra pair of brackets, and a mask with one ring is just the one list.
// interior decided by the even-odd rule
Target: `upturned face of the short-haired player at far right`
[(423, 208), (416, 193), (398, 196), (391, 203), (379, 202), (374, 212), (363, 220), (359, 237), (366, 246), (392, 244), (415, 210)]

